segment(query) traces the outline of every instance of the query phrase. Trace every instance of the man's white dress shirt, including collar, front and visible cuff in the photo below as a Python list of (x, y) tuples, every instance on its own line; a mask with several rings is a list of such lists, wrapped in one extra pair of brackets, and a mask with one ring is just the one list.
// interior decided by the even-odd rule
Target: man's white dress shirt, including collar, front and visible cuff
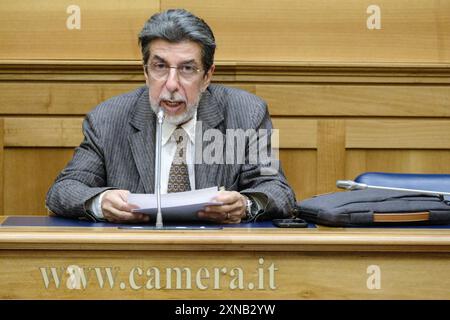
[[(195, 126), (197, 124), (197, 113), (194, 114), (191, 120), (181, 125), (181, 127), (186, 131), (189, 142), (187, 144), (186, 150), (186, 162), (189, 172), (189, 181), (191, 183), (191, 190), (195, 190), (195, 170), (194, 170), (194, 159), (195, 159)], [(163, 122), (162, 126), (162, 141), (161, 141), (161, 193), (167, 193), (167, 185), (169, 183), (169, 172), (172, 166), (173, 158), (175, 157), (175, 151), (177, 150), (177, 143), (172, 133), (177, 128), (176, 125), (171, 124), (167, 121)], [(156, 162), (156, 161), (155, 161)], [(155, 168), (156, 171), (156, 168)], [(106, 191), (105, 191), (106, 192)], [(103, 195), (105, 192), (97, 195), (93, 199), (89, 200), (86, 204), (86, 208), (90, 210), (97, 218), (103, 219), (103, 212), (101, 208), (101, 203)]]

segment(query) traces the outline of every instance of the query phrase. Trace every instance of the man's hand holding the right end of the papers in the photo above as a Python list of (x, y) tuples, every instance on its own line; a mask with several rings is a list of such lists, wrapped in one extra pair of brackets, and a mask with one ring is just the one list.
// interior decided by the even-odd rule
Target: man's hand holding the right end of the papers
[(198, 213), (200, 218), (219, 223), (240, 223), (245, 218), (247, 199), (239, 192), (220, 191), (214, 200), (223, 204), (205, 207)]

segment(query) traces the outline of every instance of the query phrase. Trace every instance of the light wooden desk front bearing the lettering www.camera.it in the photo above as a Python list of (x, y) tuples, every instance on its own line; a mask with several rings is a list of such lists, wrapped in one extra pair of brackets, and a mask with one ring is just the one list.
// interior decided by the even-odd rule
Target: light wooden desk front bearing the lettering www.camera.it
[(0, 228), (0, 299), (449, 299), (449, 271), (450, 229)]

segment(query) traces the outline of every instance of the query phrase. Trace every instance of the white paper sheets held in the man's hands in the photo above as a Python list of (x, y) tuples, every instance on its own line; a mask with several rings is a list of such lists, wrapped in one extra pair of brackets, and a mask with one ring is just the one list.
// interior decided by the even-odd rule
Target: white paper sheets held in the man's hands
[[(213, 201), (219, 193), (217, 187), (186, 192), (174, 192), (161, 195), (161, 213), (164, 220), (170, 221), (200, 221), (197, 212), (209, 205), (221, 205)], [(128, 203), (139, 209), (133, 212), (145, 213), (156, 219), (156, 194), (130, 193)]]

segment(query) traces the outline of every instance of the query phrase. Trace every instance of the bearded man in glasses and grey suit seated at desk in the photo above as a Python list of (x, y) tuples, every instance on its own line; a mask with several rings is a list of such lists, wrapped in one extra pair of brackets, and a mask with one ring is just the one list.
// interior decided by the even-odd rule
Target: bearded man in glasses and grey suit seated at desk
[(198, 213), (218, 223), (288, 216), (295, 196), (281, 168), (264, 174), (267, 163), (195, 161), (219, 142), (202, 138), (208, 132), (272, 128), (260, 98), (210, 84), (216, 44), (209, 26), (186, 10), (168, 10), (145, 23), (139, 43), (146, 86), (111, 98), (86, 116), (84, 141), (47, 194), (49, 210), (118, 223), (148, 221), (132, 212), (127, 197), (155, 192), (156, 114), (162, 108), (162, 193), (223, 187), (215, 199), (222, 205)]

